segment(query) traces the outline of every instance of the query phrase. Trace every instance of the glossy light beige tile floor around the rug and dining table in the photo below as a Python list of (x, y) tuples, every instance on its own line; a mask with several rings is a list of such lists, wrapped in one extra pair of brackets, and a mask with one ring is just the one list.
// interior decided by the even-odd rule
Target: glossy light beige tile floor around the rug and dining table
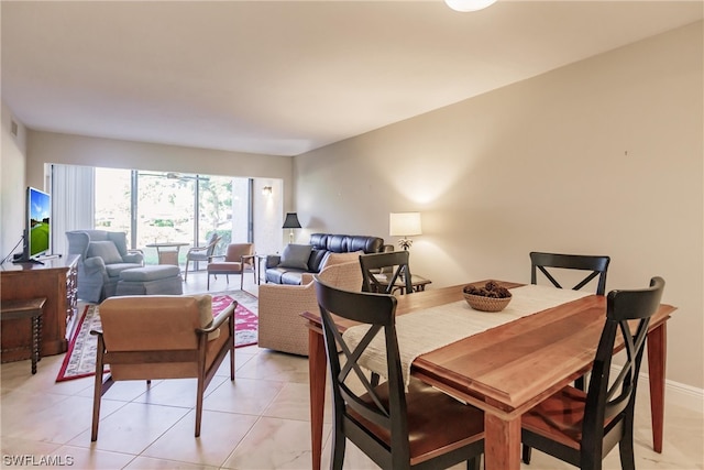
[[(189, 293), (205, 292), (204, 273), (189, 273)], [(237, 284), (230, 284), (237, 288)], [(228, 286), (219, 277), (211, 291)], [(252, 277), (245, 291), (256, 294)], [(191, 380), (119, 382), (105, 395), (97, 442), (90, 442), (92, 379), (55, 383), (63, 354), (43, 358), (36, 375), (29, 361), (2, 364), (2, 468), (76, 469), (309, 469), (308, 364), (305, 358), (256, 346), (237, 350), (237, 376), (227, 361), (207, 390), (200, 438), (194, 438)], [(641, 387), (645, 389), (645, 387)], [(668, 403), (664, 451), (651, 450), (648, 397), (639, 398), (636, 464), (647, 469), (703, 469), (703, 413)], [(330, 436), (327, 416), (326, 440)], [(33, 457), (32, 457), (33, 456)], [(328, 468), (329, 442), (323, 449)], [(346, 469), (374, 469), (348, 446)], [(463, 468), (463, 466), (458, 466)], [(524, 469), (571, 468), (540, 452)], [(605, 469), (619, 469), (618, 452)]]

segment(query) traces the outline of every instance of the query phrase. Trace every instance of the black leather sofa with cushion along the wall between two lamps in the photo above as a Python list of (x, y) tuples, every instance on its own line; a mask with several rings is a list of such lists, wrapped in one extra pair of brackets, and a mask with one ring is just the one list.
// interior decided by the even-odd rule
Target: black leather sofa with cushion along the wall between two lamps
[(279, 254), (266, 256), (265, 281), (300, 285), (304, 273), (317, 274), (331, 264), (358, 261), (362, 253), (393, 251), (384, 239), (366, 236), (312, 233), (309, 244), (289, 244)]

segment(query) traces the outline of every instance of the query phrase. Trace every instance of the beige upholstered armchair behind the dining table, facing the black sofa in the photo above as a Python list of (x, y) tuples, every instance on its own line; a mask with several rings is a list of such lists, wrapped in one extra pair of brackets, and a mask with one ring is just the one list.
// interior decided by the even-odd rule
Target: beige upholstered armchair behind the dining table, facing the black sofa
[[(301, 285), (260, 286), (258, 346), (293, 354), (308, 356), (308, 328), (300, 314), (318, 311), (312, 274), (305, 273)], [(359, 261), (332, 264), (318, 276), (324, 283), (345, 289), (362, 289)]]

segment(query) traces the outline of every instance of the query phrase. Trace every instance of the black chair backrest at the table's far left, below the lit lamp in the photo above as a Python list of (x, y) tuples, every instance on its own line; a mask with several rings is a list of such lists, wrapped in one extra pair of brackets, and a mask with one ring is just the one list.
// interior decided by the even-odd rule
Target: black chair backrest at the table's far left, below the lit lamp
[(408, 265), (408, 251), (361, 254), (362, 291), (391, 294), (398, 287), (397, 281), (405, 285), (407, 294), (414, 292)]

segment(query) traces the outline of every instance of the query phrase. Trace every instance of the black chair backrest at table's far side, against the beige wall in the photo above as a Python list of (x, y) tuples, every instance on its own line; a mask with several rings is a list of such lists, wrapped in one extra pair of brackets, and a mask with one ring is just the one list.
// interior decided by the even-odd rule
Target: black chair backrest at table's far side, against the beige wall
[[(606, 271), (608, 270), (609, 261), (610, 258), (601, 255), (541, 253), (534, 251), (530, 253), (530, 284), (538, 283), (538, 271), (540, 271), (552, 285), (563, 288), (553, 276), (557, 270), (590, 271), (586, 277), (578, 282), (572, 289), (579, 291), (594, 277), (598, 276), (596, 294), (604, 295), (606, 292)], [(550, 271), (548, 267), (557, 270)]]

